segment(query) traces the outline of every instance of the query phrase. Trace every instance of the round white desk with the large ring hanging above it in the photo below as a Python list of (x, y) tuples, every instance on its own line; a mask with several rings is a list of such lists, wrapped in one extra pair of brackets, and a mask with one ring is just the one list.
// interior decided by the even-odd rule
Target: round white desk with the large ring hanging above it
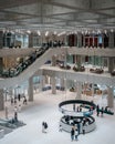
[[(75, 106), (80, 107), (75, 109)], [(79, 133), (85, 133), (95, 130), (95, 119), (91, 116), (96, 105), (93, 102), (83, 100), (69, 100), (59, 104), (59, 110), (64, 114), (60, 120), (60, 125), (66, 132), (71, 132), (72, 126), (77, 127)]]

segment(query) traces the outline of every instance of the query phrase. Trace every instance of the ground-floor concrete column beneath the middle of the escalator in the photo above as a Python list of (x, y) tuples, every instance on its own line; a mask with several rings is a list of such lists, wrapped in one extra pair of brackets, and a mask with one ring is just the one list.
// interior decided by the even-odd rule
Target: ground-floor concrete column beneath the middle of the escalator
[(33, 76), (29, 79), (29, 101), (33, 101)]

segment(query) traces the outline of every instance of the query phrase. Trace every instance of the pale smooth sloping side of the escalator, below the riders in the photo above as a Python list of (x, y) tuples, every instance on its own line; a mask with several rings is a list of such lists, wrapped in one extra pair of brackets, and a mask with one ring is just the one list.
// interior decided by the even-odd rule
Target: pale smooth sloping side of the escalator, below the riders
[(14, 85), (20, 85), (22, 82), (29, 80), (32, 75), (34, 75), (35, 72), (39, 71), (41, 65), (43, 65), (48, 60), (52, 59), (52, 55), (54, 54), (62, 54), (65, 52), (65, 49), (59, 50), (59, 49), (49, 49), (45, 51), (42, 51), (40, 55), (34, 60), (34, 62), (30, 63), (29, 66), (27, 66), (21, 73), (17, 73), (12, 78), (1, 78), (0, 79), (0, 89), (2, 88), (11, 88)]

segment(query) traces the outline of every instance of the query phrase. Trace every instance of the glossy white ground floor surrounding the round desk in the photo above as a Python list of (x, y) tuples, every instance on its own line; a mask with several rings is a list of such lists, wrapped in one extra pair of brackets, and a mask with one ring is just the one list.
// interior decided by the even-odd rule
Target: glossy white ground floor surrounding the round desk
[[(25, 126), (14, 130), (0, 140), (0, 144), (115, 144), (115, 115), (96, 117), (97, 128), (88, 134), (80, 135), (79, 141), (71, 142), (70, 133), (59, 132), (59, 121), (62, 114), (59, 112), (59, 103), (69, 99), (75, 99), (71, 92), (60, 92), (56, 95), (51, 91), (36, 93), (34, 102), (23, 106), (19, 113), (19, 120), (27, 123)], [(86, 97), (85, 97), (86, 99)], [(98, 101), (94, 97), (94, 101)], [(100, 100), (100, 104), (105, 104)], [(3, 116), (3, 113), (0, 113)], [(49, 132), (42, 133), (42, 122), (49, 124)]]

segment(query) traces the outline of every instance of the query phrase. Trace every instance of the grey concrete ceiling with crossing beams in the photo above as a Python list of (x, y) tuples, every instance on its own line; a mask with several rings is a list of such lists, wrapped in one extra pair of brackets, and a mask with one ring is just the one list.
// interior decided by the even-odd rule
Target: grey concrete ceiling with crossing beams
[(115, 0), (0, 0), (0, 29), (115, 30)]

